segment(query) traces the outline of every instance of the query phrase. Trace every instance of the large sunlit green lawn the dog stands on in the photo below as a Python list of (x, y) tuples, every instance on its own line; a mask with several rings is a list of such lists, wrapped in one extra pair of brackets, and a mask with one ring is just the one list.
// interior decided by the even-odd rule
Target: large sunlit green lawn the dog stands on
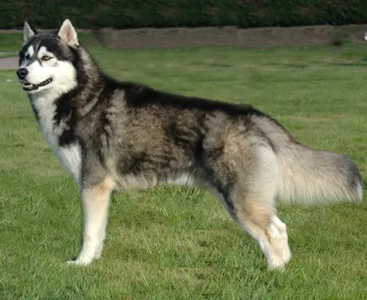
[[(312, 148), (349, 155), (367, 180), (364, 45), (91, 50), (121, 80), (252, 103)], [(280, 273), (268, 271), (255, 241), (207, 192), (118, 194), (102, 259), (67, 266), (80, 250), (76, 185), (43, 140), (14, 71), (0, 71), (0, 108), (0, 299), (367, 299), (366, 197), (281, 204), (293, 257)]]

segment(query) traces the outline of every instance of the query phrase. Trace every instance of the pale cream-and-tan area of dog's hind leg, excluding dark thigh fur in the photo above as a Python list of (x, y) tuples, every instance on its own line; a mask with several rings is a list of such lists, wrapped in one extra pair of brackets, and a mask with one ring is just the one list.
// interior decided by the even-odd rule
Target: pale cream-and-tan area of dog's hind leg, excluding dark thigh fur
[[(238, 176), (230, 198), (237, 222), (253, 236), (270, 269), (283, 269), (291, 259), (286, 224), (277, 217), (276, 196), (279, 169), (275, 153), (266, 147), (251, 155), (253, 165)], [(241, 180), (242, 179), (242, 180)]]

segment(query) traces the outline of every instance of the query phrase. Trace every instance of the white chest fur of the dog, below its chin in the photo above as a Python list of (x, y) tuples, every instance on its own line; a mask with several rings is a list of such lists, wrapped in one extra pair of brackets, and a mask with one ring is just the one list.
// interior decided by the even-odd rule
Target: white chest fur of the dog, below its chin
[(80, 145), (76, 142), (60, 145), (60, 136), (64, 130), (69, 128), (62, 120), (59, 124), (55, 122), (56, 106), (53, 101), (50, 101), (50, 99), (36, 99), (33, 104), (38, 113), (39, 127), (44, 138), (50, 144), (57, 159), (78, 183), (81, 172)]

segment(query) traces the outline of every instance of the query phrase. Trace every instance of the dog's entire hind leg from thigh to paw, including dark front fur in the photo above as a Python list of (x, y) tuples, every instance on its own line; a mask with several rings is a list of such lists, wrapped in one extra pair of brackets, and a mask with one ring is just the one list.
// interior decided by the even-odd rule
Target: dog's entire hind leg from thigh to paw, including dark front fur
[(233, 219), (258, 241), (269, 268), (283, 269), (291, 251), (286, 225), (277, 217), (277, 158), (263, 145), (241, 150), (241, 159), (239, 151), (224, 152), (218, 159), (214, 171), (217, 192)]

